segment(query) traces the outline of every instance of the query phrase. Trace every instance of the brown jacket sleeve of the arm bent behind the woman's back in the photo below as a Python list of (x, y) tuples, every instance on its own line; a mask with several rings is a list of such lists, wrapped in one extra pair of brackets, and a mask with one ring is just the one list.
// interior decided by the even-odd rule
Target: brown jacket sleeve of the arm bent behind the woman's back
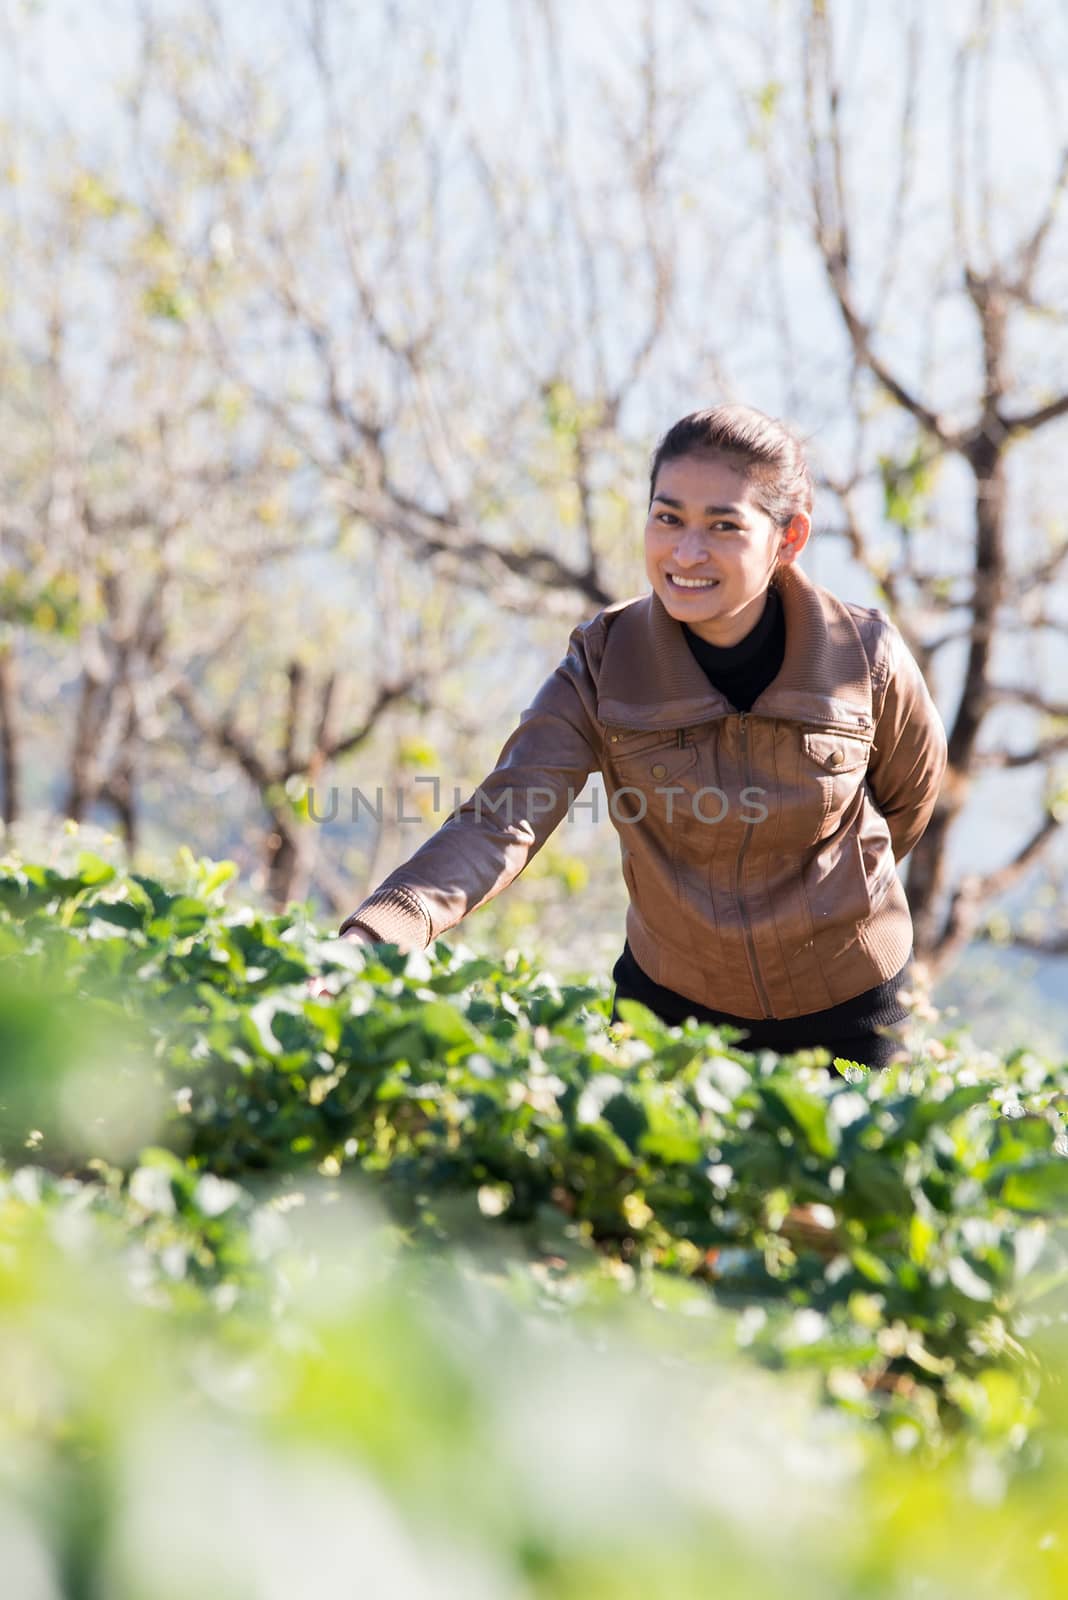
[(891, 826), (894, 859), (916, 845), (931, 821), (946, 768), (946, 736), (916, 658), (887, 619), (883, 691), (876, 685), (876, 725), (868, 789)]

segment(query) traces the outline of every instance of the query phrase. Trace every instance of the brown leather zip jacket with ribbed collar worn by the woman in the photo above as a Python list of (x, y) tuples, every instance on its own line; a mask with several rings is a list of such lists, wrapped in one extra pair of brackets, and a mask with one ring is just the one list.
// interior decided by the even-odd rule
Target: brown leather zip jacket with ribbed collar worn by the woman
[(512, 883), (600, 770), (627, 938), (656, 982), (790, 1018), (897, 973), (913, 926), (895, 862), (934, 811), (945, 730), (883, 611), (796, 563), (774, 582), (785, 658), (748, 712), (656, 594), (576, 627), (492, 773), (341, 931), (424, 949)]

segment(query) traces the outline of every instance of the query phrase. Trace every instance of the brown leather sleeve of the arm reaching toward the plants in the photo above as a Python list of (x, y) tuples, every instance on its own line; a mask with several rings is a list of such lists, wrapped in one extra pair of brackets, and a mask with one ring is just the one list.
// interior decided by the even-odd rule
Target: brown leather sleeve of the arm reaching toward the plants
[(590, 627), (574, 629), (568, 654), (521, 714), (492, 773), (339, 934), (358, 923), (382, 942), (422, 950), (500, 894), (537, 854), (601, 763)]

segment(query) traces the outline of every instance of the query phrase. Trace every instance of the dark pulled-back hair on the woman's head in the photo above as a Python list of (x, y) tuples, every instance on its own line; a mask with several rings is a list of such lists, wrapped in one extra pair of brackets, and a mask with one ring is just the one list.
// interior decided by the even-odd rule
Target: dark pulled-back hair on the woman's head
[(812, 515), (812, 475), (801, 440), (785, 422), (748, 405), (713, 405), (679, 418), (652, 451), (649, 504), (665, 461), (700, 454), (727, 456), (777, 526), (785, 528), (799, 510)]

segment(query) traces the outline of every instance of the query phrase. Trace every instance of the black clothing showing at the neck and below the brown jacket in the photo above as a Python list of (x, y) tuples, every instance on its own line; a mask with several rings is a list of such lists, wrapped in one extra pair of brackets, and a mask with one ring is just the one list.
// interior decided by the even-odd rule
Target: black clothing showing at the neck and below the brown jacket
[[(787, 619), (782, 597), (777, 587), (769, 584), (759, 621), (737, 645), (708, 645), (686, 624), (683, 624), (683, 634), (711, 686), (719, 690), (737, 710), (748, 710), (782, 667), (787, 650)], [(748, 1037), (740, 1040), (742, 1050), (830, 1045), (838, 1054), (851, 1054), (855, 1050), (854, 1059), (879, 1067), (886, 1066), (892, 1046), (875, 1035), (873, 1029), (879, 1024), (900, 1022), (908, 1016), (897, 1000), (897, 990), (902, 987), (908, 965), (910, 962), (905, 962), (905, 966), (894, 978), (887, 978), (886, 982), (876, 984), (841, 1005), (780, 1019), (735, 1018), (727, 1011), (711, 1011), (664, 984), (654, 984), (648, 973), (638, 966), (627, 942), (624, 942), (624, 954), (612, 970), (612, 979), (617, 998), (641, 1000), (667, 1022), (681, 1022), (686, 1016), (695, 1016), (705, 1022), (737, 1022), (740, 1027), (747, 1027)]]

